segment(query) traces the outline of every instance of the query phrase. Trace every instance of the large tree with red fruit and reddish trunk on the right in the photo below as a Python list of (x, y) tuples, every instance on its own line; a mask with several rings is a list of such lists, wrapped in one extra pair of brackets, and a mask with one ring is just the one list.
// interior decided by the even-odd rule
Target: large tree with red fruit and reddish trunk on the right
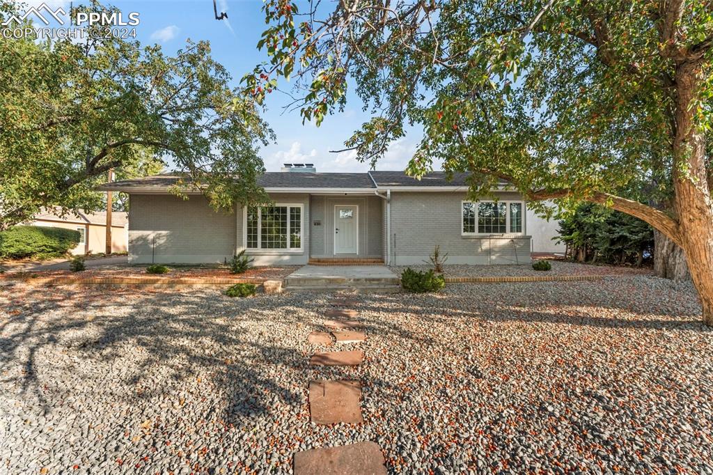
[[(645, 220), (684, 249), (713, 325), (710, 1), (263, 8), (268, 57), (245, 77), (257, 101), (292, 76), (304, 118), (319, 123), (353, 83), (373, 112), (346, 143), (360, 160), (378, 160), (416, 123), (416, 176), (442, 162), (470, 172), (473, 193), (506, 179), (530, 200), (588, 200)], [(646, 200), (615, 194), (632, 182), (654, 184)]]

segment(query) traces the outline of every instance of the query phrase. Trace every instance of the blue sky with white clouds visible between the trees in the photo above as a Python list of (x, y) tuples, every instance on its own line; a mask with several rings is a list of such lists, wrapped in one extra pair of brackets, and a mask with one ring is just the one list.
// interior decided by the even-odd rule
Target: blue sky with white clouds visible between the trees
[[(37, 5), (42, 1), (30, 0), (29, 3)], [(46, 0), (45, 3), (53, 8), (63, 6), (68, 9), (69, 6), (69, 1)], [(84, 2), (74, 2), (81, 3)], [(265, 60), (265, 53), (259, 53), (255, 47), (265, 29), (262, 0), (218, 0), (219, 12), (227, 11), (227, 22), (215, 20), (212, 0), (114, 0), (111, 4), (123, 14), (130, 11), (140, 14), (136, 33), (142, 44), (158, 43), (167, 53), (174, 53), (185, 45), (186, 39), (210, 41), (213, 57), (230, 71), (236, 85), (247, 71)], [(369, 165), (357, 162), (354, 153), (329, 153), (329, 150), (343, 148), (352, 132), (369, 119), (361, 111), (358, 98), (350, 98), (344, 113), (325, 118), (322, 126), (317, 128), (310, 123), (302, 126), (299, 111), (283, 113), (287, 96), (273, 93), (267, 101), (264, 117), (275, 130), (277, 143), (262, 150), (267, 170), (279, 170), (283, 162), (314, 163), (318, 171), (368, 170)], [(420, 139), (418, 134), (413, 135), (392, 144), (376, 168), (406, 168)]]

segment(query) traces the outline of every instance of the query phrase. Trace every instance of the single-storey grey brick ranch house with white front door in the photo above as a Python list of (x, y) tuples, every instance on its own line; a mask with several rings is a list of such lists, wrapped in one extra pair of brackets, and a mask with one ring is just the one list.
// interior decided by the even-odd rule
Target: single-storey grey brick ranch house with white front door
[(403, 172), (316, 173), (286, 164), (260, 185), (270, 208), (210, 208), (200, 193), (171, 195), (178, 175), (107, 183), (128, 193), (129, 262), (227, 262), (241, 250), (255, 265), (307, 264), (310, 259), (369, 258), (392, 265), (423, 264), (434, 246), (449, 264), (530, 262), (527, 203), (506, 184), (498, 202), (466, 200), (466, 174), (421, 180)]

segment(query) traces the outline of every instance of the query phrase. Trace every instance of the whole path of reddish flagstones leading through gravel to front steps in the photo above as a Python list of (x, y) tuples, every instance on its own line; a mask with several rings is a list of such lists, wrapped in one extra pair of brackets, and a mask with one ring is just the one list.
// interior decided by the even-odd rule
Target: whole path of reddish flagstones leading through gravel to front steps
[[(337, 298), (329, 303), (332, 307), (357, 305), (355, 300)], [(339, 344), (361, 343), (366, 333), (360, 329), (356, 310), (330, 308), (324, 312), (323, 325), (331, 333), (314, 331), (307, 341), (314, 344), (332, 345), (332, 337)], [(364, 361), (364, 351), (315, 352), (309, 358), (310, 366), (358, 366)], [(316, 380), (309, 382), (309, 417), (315, 424), (361, 424), (361, 382), (352, 380)], [(311, 449), (294, 454), (295, 475), (381, 475), (386, 474), (384, 454), (379, 444), (373, 441), (346, 446)]]

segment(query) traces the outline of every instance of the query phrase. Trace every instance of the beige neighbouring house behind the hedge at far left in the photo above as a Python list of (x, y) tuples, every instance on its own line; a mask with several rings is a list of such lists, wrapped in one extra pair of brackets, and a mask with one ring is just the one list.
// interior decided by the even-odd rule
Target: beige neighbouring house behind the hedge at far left
[[(77, 230), (79, 244), (70, 252), (73, 255), (106, 252), (106, 211), (98, 213), (69, 213), (63, 218), (60, 211), (42, 210), (28, 224)], [(128, 215), (123, 211), (111, 213), (111, 252), (128, 250)]]

